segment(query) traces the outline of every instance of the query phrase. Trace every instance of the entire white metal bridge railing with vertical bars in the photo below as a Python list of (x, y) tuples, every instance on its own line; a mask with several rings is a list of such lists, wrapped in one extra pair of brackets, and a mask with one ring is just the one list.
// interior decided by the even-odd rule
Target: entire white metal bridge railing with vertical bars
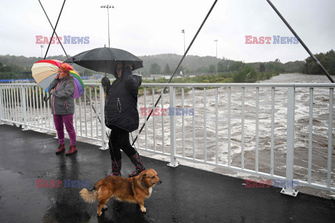
[[(75, 103), (76, 133), (107, 148), (108, 130), (98, 121), (100, 117), (104, 123), (102, 86), (85, 86), (88, 98), (84, 94)], [(172, 167), (177, 159), (188, 160), (335, 192), (334, 86), (142, 84), (140, 127), (146, 125), (135, 145), (170, 156)], [(168, 92), (163, 93), (165, 87)], [(1, 84), (1, 122), (55, 132), (44, 95), (36, 84)], [(154, 115), (147, 121), (149, 109)], [(294, 194), (292, 187), (286, 190)]]

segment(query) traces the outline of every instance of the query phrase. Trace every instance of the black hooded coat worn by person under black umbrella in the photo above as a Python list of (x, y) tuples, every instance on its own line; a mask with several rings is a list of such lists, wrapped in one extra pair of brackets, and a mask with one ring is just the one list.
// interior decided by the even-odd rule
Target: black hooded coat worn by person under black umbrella
[(121, 78), (114, 76), (117, 79), (112, 85), (107, 77), (104, 77), (101, 82), (107, 92), (105, 125), (107, 128), (112, 128), (114, 125), (127, 132), (133, 132), (139, 125), (137, 95), (142, 77), (133, 75), (129, 67), (122, 70)]

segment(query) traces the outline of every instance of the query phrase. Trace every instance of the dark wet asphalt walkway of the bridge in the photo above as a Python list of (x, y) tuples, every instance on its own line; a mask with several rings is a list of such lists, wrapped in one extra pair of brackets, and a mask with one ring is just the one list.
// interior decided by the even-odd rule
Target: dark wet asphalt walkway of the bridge
[[(84, 203), (79, 191), (87, 183), (91, 189), (110, 173), (109, 151), (77, 141), (78, 153), (66, 157), (54, 154), (57, 147), (52, 135), (0, 125), (0, 222), (335, 221), (334, 200), (302, 193), (290, 197), (276, 187), (245, 188), (245, 180), (239, 178), (172, 168), (149, 157), (143, 157), (144, 164), (155, 169), (163, 183), (144, 200), (147, 213), (141, 213), (137, 204), (111, 199), (97, 217), (97, 202)], [(122, 155), (121, 173), (127, 176), (134, 167)], [(44, 182), (50, 186), (51, 180), (55, 187), (46, 187)], [(56, 187), (56, 180), (62, 181), (61, 187)]]

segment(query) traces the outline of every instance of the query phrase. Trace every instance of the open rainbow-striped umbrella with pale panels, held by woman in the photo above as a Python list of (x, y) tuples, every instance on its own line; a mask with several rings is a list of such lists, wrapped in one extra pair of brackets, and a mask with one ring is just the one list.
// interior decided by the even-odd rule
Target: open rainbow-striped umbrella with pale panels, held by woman
[[(33, 77), (36, 81), (36, 84), (40, 86), (44, 91), (49, 90), (51, 82), (54, 80), (58, 73), (58, 69), (61, 66), (61, 61), (57, 60), (42, 60), (34, 63), (31, 68)], [(84, 93), (84, 83), (79, 73), (75, 70), (70, 70), (70, 75), (75, 81), (75, 93), (73, 98), (79, 98), (82, 93)]]

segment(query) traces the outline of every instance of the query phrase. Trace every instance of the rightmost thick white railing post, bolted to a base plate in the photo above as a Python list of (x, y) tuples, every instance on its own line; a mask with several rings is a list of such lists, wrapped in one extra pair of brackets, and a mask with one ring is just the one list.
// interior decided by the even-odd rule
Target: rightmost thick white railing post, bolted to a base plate
[(295, 86), (288, 87), (288, 128), (286, 148), (286, 187), (282, 194), (297, 197), (298, 191), (293, 190), (293, 164), (295, 157)]

